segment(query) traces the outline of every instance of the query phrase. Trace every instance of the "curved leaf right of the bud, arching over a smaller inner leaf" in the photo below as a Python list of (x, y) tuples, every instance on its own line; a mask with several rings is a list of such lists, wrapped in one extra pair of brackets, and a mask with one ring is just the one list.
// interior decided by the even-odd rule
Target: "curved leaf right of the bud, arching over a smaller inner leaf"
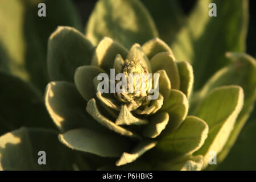
[(150, 60), (152, 72), (164, 69), (172, 85), (172, 89), (180, 88), (180, 76), (175, 57), (170, 52), (160, 52)]

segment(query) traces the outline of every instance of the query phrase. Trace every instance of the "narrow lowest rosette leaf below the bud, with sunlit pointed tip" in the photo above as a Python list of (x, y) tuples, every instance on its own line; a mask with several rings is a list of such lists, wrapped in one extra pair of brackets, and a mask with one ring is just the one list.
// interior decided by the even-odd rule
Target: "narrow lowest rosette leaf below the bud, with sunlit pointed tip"
[(138, 144), (137, 147), (135, 147), (131, 152), (123, 152), (120, 159), (117, 160), (115, 165), (122, 166), (127, 163), (132, 163), (136, 159), (138, 159), (141, 155), (143, 155), (145, 152), (150, 150), (151, 148), (155, 147), (156, 142), (150, 141), (150, 140), (144, 140)]

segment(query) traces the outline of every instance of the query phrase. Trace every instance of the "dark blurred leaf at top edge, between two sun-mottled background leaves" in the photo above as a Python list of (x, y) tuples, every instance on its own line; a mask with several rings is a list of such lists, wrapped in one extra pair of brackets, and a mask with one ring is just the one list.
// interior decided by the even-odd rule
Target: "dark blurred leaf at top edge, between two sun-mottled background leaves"
[(155, 21), (159, 36), (170, 44), (184, 23), (184, 14), (177, 0), (142, 0)]

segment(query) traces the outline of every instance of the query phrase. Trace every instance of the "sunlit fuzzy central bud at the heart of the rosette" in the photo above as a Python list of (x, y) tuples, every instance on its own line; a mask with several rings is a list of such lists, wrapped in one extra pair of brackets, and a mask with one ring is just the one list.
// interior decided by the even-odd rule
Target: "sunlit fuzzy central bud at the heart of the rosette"
[[(127, 81), (127, 88), (122, 93), (115, 93), (115, 97), (127, 104), (129, 110), (135, 110), (139, 106), (147, 105), (148, 100), (148, 71), (139, 60), (125, 60), (122, 65), (122, 73)], [(116, 84), (119, 81), (116, 81)]]

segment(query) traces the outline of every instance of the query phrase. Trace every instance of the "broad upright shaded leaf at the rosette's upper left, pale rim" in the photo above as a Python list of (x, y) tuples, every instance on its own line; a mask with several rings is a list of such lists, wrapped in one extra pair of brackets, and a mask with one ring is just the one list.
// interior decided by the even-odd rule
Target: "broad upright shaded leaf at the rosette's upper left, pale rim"
[(47, 66), (52, 81), (73, 82), (76, 68), (90, 65), (94, 47), (72, 27), (58, 27), (49, 38)]

